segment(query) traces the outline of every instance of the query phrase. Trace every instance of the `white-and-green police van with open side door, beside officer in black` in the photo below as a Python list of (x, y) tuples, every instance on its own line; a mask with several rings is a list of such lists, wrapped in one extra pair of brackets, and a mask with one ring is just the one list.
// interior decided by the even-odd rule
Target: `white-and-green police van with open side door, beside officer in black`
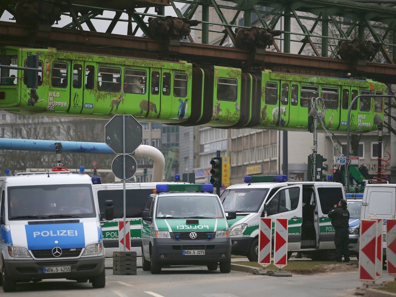
[(247, 176), (245, 183), (228, 187), (220, 197), (228, 221), (232, 253), (258, 258), (259, 218), (288, 218), (288, 257), (303, 252), (312, 259), (334, 258), (335, 230), (327, 214), (345, 198), (341, 183), (288, 182), (286, 175)]

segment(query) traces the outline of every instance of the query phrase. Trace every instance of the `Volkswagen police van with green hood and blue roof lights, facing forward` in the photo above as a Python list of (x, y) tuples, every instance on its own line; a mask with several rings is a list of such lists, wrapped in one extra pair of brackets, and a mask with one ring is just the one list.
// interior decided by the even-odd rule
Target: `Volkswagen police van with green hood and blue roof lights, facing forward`
[(143, 270), (161, 272), (163, 265), (207, 265), (231, 271), (227, 220), (213, 185), (157, 185), (142, 217)]

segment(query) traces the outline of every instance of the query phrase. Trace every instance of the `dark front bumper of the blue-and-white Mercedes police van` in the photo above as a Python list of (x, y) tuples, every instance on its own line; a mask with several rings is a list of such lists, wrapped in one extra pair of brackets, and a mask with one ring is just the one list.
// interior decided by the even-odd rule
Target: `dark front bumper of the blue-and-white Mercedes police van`
[[(9, 277), (15, 281), (42, 279), (76, 279), (99, 275), (104, 269), (104, 255), (79, 259), (57, 260), (6, 260), (4, 264)], [(43, 273), (44, 267), (70, 266), (71, 272)]]

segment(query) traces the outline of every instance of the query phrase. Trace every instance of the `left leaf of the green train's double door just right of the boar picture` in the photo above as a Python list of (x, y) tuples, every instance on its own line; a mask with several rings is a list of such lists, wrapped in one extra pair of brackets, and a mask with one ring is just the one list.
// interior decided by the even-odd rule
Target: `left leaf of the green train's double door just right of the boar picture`
[(162, 72), (160, 68), (155, 68), (151, 69), (150, 68), (150, 76), (148, 78), (149, 83), (149, 90), (148, 90), (148, 100), (147, 102), (140, 102), (140, 104), (146, 106), (140, 106), (141, 107), (141, 113), (144, 113), (144, 115), (147, 118), (157, 118), (157, 116), (160, 113), (160, 107), (161, 107), (161, 94), (162, 94), (162, 80), (160, 79), (162, 77)]

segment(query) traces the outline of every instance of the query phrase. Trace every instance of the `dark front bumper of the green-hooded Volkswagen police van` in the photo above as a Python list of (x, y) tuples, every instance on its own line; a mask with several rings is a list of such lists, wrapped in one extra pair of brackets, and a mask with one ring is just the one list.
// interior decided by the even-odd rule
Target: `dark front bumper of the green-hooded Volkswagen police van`
[[(202, 248), (203, 247), (203, 248)], [(184, 255), (183, 250), (205, 250), (204, 255)], [(154, 239), (151, 249), (154, 259), (159, 264), (204, 265), (227, 262), (231, 260), (231, 242), (229, 238), (206, 240)]]

